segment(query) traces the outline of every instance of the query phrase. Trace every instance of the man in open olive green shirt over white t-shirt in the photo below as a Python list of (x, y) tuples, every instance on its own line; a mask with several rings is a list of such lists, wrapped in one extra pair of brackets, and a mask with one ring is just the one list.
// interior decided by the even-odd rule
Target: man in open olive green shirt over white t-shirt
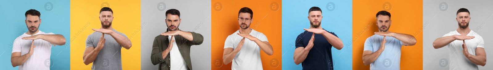
[(190, 46), (202, 44), (204, 36), (178, 30), (181, 19), (176, 9), (166, 11), (165, 20), (167, 32), (154, 38), (152, 64), (159, 64), (159, 70), (192, 70)]

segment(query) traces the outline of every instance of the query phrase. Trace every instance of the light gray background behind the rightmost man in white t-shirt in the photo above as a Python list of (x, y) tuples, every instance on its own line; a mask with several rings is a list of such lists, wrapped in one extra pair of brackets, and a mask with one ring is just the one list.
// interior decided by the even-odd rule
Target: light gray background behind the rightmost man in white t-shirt
[[(442, 5), (442, 2), (447, 5)], [(467, 8), (471, 12), (469, 29), (481, 35), (485, 41), (487, 63), (485, 67), (478, 66), (479, 70), (493, 69), (492, 6), (493, 0), (423, 0), (423, 70), (449, 70), (448, 64), (440, 64), (450, 63), (449, 48), (435, 49), (433, 41), (457, 30), (456, 13), (459, 8)]]

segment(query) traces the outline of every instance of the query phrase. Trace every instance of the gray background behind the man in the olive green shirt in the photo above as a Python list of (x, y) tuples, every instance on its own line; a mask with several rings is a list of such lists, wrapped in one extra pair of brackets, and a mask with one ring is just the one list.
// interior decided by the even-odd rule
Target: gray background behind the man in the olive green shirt
[[(159, 8), (159, 2), (165, 6)], [(150, 55), (154, 37), (166, 32), (164, 19), (168, 9), (180, 11), (181, 31), (204, 36), (201, 45), (191, 46), (192, 69), (211, 70), (211, 0), (141, 0), (141, 70), (158, 69), (158, 65), (152, 65)]]

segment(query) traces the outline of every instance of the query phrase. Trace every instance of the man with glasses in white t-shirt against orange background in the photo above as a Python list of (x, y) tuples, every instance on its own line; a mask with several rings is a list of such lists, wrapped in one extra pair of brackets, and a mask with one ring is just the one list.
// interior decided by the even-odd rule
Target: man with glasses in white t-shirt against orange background
[(224, 41), (222, 59), (224, 64), (232, 62), (231, 70), (263, 70), (260, 49), (267, 55), (274, 53), (267, 36), (250, 29), (252, 21), (253, 11), (248, 7), (241, 8), (238, 12), (238, 24), (241, 29)]

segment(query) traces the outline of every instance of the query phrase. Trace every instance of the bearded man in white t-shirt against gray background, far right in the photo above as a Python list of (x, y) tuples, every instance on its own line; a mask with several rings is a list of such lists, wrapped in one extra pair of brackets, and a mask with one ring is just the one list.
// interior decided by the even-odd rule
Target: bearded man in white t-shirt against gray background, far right
[(460, 8), (456, 18), (459, 28), (433, 41), (435, 49), (450, 48), (450, 70), (478, 70), (477, 65), (486, 65), (485, 42), (469, 29), (469, 15), (469, 10)]

